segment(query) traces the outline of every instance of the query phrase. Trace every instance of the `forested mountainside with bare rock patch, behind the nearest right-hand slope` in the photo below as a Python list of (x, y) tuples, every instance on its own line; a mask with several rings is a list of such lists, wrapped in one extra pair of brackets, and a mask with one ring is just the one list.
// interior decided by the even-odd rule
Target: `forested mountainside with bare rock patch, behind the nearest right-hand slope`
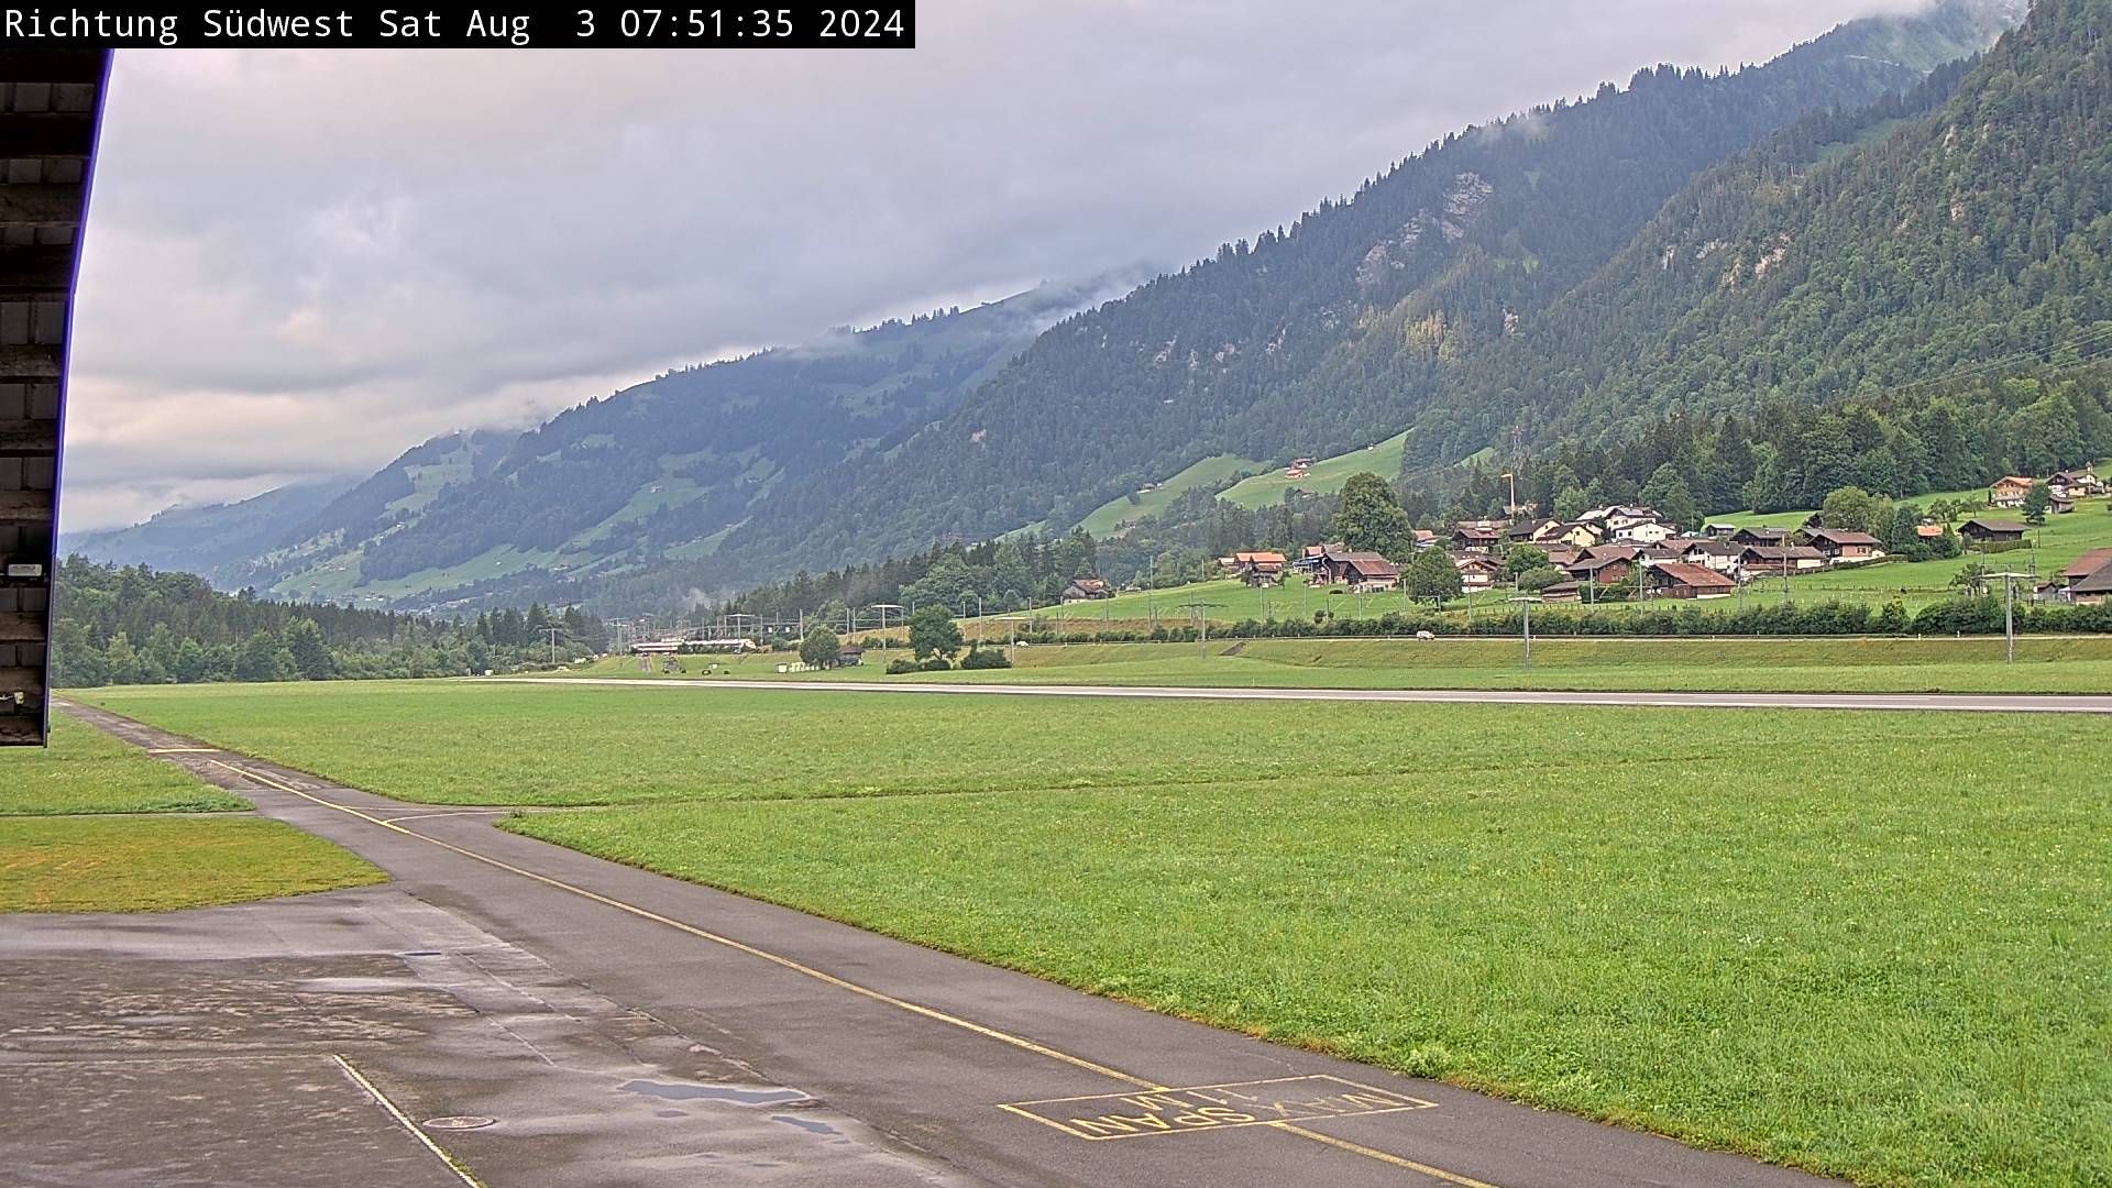
[[(790, 482), (720, 556), (743, 573), (906, 554), (934, 537), (1062, 526), (1219, 452), (1326, 454), (1392, 435), (1442, 366), (1592, 277), (1696, 171), (1806, 112), (1859, 108), (1983, 47), (2004, 6), (1856, 21), (1738, 74), (1658, 68), (1628, 89), (1449, 135), (1286, 230), (1043, 334), (898, 452)], [(1312, 383), (1392, 319), (1428, 366)]]

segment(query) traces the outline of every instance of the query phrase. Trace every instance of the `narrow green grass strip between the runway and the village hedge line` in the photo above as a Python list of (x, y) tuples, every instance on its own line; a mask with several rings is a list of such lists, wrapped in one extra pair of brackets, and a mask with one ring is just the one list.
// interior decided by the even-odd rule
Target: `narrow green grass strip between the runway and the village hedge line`
[[(1198, 655), (1198, 651), (1202, 655)], [(889, 651), (860, 668), (777, 672), (775, 653), (604, 660), (572, 672), (634, 681), (885, 681), (898, 685), (1202, 685), (1284, 689), (1586, 689), (1738, 693), (2112, 693), (2112, 636), (2000, 638), (1535, 638), (1523, 668), (1516, 638), (1257, 638), (1193, 643), (1088, 643), (1018, 647), (1016, 668), (889, 676)]]

